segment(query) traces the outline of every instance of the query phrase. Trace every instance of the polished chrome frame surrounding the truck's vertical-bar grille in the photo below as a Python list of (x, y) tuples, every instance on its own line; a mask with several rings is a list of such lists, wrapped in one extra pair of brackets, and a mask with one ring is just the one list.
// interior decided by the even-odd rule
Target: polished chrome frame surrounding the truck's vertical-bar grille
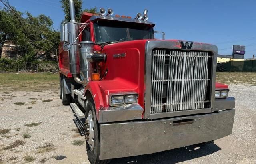
[[(145, 44), (145, 75), (144, 75), (144, 81), (146, 85), (146, 103), (145, 103), (145, 113), (144, 113), (144, 119), (152, 119), (150, 117), (151, 112), (151, 92), (154, 88), (151, 86), (150, 80), (152, 79), (152, 64), (151, 64), (151, 58), (152, 58), (152, 50), (154, 48), (162, 48), (162, 49), (177, 49), (182, 50), (182, 47), (180, 45), (180, 41), (146, 41)], [(203, 43), (193, 43), (190, 50), (193, 51), (209, 51), (212, 52), (212, 63), (211, 63), (211, 86), (210, 86), (210, 106), (211, 106), (211, 112), (214, 111), (214, 101), (215, 101), (215, 80), (216, 80), (216, 63), (217, 63), (217, 54), (218, 49), (216, 45), (210, 45), (210, 44), (203, 44)], [(174, 55), (180, 55), (180, 54), (174, 54)], [(154, 56), (154, 54), (153, 54)], [(208, 63), (208, 62), (206, 62)], [(206, 77), (208, 75), (208, 72), (206, 72)], [(156, 88), (157, 89), (157, 88)], [(175, 87), (174, 87), (175, 89)], [(191, 89), (190, 89), (191, 90)], [(194, 90), (192, 89), (194, 92)], [(193, 95), (193, 94), (192, 94)], [(171, 95), (168, 95), (170, 99)], [(150, 102), (149, 102), (150, 101)], [(162, 114), (163, 115), (163, 114)]]

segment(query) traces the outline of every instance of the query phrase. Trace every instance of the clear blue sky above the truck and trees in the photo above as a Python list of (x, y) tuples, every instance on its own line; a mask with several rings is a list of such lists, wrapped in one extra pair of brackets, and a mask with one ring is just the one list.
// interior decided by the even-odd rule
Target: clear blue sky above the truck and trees
[[(60, 29), (64, 13), (59, 0), (9, 2), (21, 12), (49, 16), (54, 29)], [(246, 45), (245, 58), (256, 55), (256, 0), (83, 0), (83, 9), (94, 7), (132, 18), (148, 9), (148, 20), (166, 39), (211, 43), (223, 55), (232, 55), (233, 44)]]

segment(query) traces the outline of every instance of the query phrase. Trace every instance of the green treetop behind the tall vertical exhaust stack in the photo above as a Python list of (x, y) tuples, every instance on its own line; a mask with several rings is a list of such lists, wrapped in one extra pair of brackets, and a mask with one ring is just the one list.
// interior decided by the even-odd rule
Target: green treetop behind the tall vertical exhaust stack
[[(63, 12), (65, 14), (65, 21), (70, 21), (70, 10), (69, 10), (69, 1), (68, 0), (60, 0), (63, 8)], [(80, 22), (80, 18), (82, 15), (82, 0), (74, 0), (75, 6), (75, 14), (76, 14), (76, 22)]]

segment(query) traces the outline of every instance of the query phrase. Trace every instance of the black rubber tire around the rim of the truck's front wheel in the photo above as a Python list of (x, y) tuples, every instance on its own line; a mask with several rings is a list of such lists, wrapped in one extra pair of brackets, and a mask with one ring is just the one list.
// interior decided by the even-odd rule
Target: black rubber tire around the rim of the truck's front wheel
[(88, 141), (86, 141), (86, 150), (87, 150), (87, 156), (88, 156), (88, 160), (90, 161), (91, 164), (107, 164), (110, 162), (110, 160), (100, 160), (99, 156), (100, 156), (100, 130), (99, 130), (99, 123), (96, 119), (96, 113), (95, 113), (95, 106), (93, 103), (92, 99), (88, 100), (88, 103), (86, 105), (86, 109), (85, 109), (85, 117), (87, 119), (88, 117), (88, 113), (92, 113), (93, 116), (93, 124), (94, 124), (94, 145), (93, 148), (91, 150)]

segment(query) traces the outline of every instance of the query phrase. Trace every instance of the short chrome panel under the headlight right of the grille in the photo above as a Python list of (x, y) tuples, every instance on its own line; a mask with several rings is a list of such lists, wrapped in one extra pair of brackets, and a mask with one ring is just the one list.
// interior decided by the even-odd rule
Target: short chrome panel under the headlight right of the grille
[(234, 97), (215, 99), (214, 111), (235, 108), (235, 100), (236, 99)]

